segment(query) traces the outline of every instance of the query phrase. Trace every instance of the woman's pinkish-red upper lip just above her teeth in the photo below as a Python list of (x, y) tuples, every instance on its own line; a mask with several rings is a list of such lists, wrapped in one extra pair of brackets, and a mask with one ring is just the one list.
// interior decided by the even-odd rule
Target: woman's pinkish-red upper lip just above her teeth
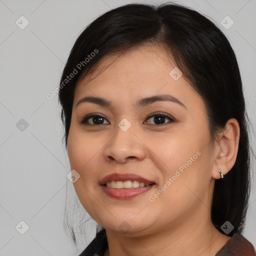
[[(109, 174), (109, 175), (103, 177), (101, 179), (101, 181), (99, 182), (99, 184), (104, 185), (107, 182), (110, 182), (111, 180), (119, 180), (119, 181), (137, 180), (138, 182), (143, 182), (143, 183), (148, 184), (148, 185), (150, 185), (152, 183), (155, 183), (154, 181), (148, 180), (148, 179), (143, 178), (143, 177), (141, 177), (137, 174), (134, 174), (134, 173), (122, 173), (122, 174), (112, 173), (112, 174)], [(125, 189), (128, 189), (128, 188), (125, 188)]]

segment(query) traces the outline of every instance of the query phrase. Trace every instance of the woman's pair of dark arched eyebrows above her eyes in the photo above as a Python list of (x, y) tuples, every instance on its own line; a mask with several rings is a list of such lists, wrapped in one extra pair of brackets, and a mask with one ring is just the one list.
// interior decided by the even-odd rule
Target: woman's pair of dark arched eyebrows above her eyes
[[(146, 105), (150, 105), (156, 101), (170, 101), (170, 102), (177, 103), (180, 106), (186, 108), (186, 106), (180, 100), (178, 100), (176, 97), (174, 97), (170, 94), (159, 94), (159, 95), (141, 98), (136, 102), (135, 106), (143, 107)], [(98, 104), (101, 106), (106, 106), (106, 107), (111, 106), (111, 101), (109, 101), (107, 99), (104, 99), (101, 97), (85, 96), (85, 97), (82, 97), (81, 99), (79, 99), (79, 101), (76, 104), (76, 107), (83, 102), (95, 103), (95, 104)]]

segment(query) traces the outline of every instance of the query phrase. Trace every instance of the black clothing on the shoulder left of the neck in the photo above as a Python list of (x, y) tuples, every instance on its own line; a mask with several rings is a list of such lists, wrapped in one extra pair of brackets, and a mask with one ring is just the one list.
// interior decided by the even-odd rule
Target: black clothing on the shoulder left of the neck
[(102, 229), (78, 256), (103, 256), (107, 248), (106, 232)]

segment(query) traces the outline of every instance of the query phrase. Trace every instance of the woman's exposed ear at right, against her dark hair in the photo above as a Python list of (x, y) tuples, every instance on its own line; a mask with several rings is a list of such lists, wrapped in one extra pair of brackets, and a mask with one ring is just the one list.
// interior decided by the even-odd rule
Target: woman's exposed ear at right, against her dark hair
[(218, 169), (225, 175), (233, 167), (238, 151), (239, 136), (239, 123), (235, 118), (230, 118), (226, 121), (224, 129), (217, 134), (214, 148), (215, 164), (211, 172), (213, 178), (220, 178)]

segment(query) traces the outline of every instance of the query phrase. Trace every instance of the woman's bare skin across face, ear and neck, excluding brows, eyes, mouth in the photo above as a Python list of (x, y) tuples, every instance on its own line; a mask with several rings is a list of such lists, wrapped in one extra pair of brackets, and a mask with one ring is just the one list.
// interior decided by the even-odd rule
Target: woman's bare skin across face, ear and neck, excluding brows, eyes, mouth
[[(104, 255), (215, 255), (230, 237), (211, 223), (212, 192), (215, 179), (220, 178), (218, 169), (226, 174), (234, 165), (237, 120), (229, 119), (211, 140), (202, 97), (183, 76), (174, 80), (169, 75), (175, 64), (162, 47), (142, 44), (115, 59), (104, 56), (92, 76), (78, 80), (67, 140), (70, 167), (80, 175), (73, 183), (77, 196), (106, 229), (109, 249)], [(170, 101), (134, 107), (138, 99), (158, 94), (171, 94), (185, 107)], [(103, 97), (112, 106), (83, 102), (76, 107), (84, 96)], [(165, 118), (160, 122), (164, 125), (158, 124), (150, 117), (154, 112), (174, 121)], [(103, 116), (104, 124), (81, 124), (90, 113)], [(118, 127), (123, 118), (131, 124), (125, 132)], [(92, 123), (92, 118), (88, 121)], [(200, 156), (149, 201), (197, 151)], [(136, 173), (153, 180), (155, 186), (128, 200), (114, 199), (99, 185), (113, 172)], [(128, 232), (119, 228), (123, 221)]]

